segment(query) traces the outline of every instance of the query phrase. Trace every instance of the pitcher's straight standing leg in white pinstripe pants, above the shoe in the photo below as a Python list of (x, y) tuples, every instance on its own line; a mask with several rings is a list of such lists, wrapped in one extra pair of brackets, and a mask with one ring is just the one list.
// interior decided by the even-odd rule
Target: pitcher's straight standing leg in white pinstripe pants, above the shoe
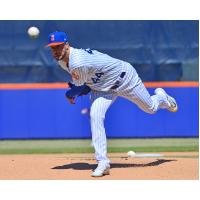
[(104, 128), (105, 114), (114, 102), (114, 95), (103, 93), (92, 94), (92, 105), (90, 109), (92, 143), (95, 149), (95, 157), (98, 162), (109, 163), (107, 158), (107, 141)]

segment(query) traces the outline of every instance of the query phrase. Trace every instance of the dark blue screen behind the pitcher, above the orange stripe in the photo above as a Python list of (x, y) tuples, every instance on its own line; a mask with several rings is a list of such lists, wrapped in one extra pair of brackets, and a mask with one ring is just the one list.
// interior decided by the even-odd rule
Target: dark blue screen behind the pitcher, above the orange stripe
[[(27, 29), (37, 26), (31, 40)], [(45, 48), (47, 36), (65, 31), (77, 48), (93, 48), (134, 65), (143, 81), (193, 80), (198, 76), (199, 22), (191, 20), (0, 20), (0, 82), (63, 82), (70, 77)], [(184, 66), (188, 69), (184, 73)], [(198, 67), (197, 67), (198, 68)]]

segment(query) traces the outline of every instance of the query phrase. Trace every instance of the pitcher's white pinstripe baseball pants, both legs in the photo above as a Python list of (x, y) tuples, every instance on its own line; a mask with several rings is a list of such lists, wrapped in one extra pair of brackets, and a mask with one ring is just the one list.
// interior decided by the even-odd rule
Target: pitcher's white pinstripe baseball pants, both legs
[(108, 92), (92, 91), (91, 93), (91, 132), (92, 144), (95, 149), (95, 157), (98, 162), (109, 163), (107, 157), (107, 141), (104, 128), (105, 114), (117, 96), (124, 97), (135, 103), (143, 111), (154, 114), (160, 108), (168, 108), (166, 99), (160, 95), (150, 96), (141, 79), (138, 77), (135, 69), (128, 66), (128, 74), (131, 76), (116, 90)]

